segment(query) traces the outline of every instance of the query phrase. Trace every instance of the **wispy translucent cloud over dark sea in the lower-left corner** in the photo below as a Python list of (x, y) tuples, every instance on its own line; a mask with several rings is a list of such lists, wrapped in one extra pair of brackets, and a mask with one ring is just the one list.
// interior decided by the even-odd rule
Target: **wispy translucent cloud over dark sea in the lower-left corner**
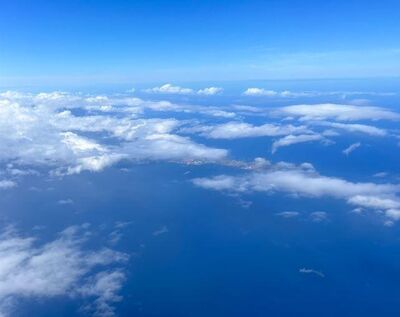
[(20, 298), (60, 296), (92, 301), (96, 316), (114, 316), (113, 304), (125, 274), (127, 255), (107, 248), (88, 250), (86, 225), (72, 226), (50, 242), (20, 235), (9, 227), (0, 236), (0, 314), (15, 315)]

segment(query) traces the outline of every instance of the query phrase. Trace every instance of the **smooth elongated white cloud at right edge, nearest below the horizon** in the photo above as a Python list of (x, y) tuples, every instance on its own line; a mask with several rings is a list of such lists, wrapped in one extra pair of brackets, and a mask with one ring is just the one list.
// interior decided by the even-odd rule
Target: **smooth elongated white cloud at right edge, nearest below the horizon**
[(296, 117), (303, 121), (327, 119), (337, 121), (400, 119), (398, 113), (385, 108), (330, 103), (281, 107), (273, 113), (278, 116)]

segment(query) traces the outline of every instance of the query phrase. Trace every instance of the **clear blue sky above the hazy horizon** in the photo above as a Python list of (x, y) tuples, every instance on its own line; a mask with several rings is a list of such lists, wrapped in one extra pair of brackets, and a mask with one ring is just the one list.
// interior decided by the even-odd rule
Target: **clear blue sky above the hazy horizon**
[(0, 84), (400, 75), (398, 0), (0, 1)]

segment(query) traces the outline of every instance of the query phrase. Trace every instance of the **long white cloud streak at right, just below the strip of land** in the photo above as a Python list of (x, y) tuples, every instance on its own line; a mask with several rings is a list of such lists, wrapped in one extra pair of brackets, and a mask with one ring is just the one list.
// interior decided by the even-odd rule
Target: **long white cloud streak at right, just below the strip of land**
[[(283, 192), (293, 197), (332, 197), (358, 207), (385, 210), (387, 217), (396, 220), (395, 211), (400, 210), (400, 185), (350, 182), (320, 175), (307, 165), (279, 163), (239, 176), (218, 175), (195, 178), (192, 182), (205, 189), (226, 192)], [(321, 219), (324, 215), (318, 212), (311, 217)]]

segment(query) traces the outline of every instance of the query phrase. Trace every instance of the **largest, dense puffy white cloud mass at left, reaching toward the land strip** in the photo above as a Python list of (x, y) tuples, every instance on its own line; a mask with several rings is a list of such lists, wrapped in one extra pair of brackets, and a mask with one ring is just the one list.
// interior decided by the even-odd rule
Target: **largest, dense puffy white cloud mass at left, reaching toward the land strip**
[[(215, 161), (227, 155), (226, 150), (209, 148), (175, 134), (180, 125), (178, 120), (137, 118), (143, 109), (149, 108), (160, 110), (175, 106), (137, 98), (113, 100), (59, 92), (3, 94), (0, 96), (0, 161), (46, 165), (54, 169), (55, 175), (62, 175), (101, 171), (122, 159)], [(75, 114), (75, 109), (83, 114)], [(192, 111), (206, 113), (215, 109)], [(212, 115), (229, 113), (220, 111)], [(2, 187), (9, 185), (4, 183)]]

